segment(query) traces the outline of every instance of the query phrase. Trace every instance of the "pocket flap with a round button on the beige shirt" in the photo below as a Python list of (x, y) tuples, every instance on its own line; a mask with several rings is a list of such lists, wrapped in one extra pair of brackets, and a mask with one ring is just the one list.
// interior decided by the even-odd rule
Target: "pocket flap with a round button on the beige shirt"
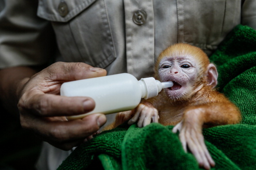
[(39, 0), (37, 15), (49, 21), (66, 22), (96, 0)]

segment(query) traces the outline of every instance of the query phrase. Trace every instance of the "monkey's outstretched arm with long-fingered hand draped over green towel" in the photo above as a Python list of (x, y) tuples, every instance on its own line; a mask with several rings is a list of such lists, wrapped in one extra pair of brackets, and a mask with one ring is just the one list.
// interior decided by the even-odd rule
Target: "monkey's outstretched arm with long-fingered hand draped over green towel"
[(188, 106), (184, 111), (183, 120), (178, 123), (173, 132), (179, 131), (179, 137), (185, 152), (187, 146), (197, 159), (199, 165), (210, 169), (215, 163), (204, 143), (202, 127), (222, 124), (235, 124), (241, 120), (239, 109), (229, 102), (206, 103)]

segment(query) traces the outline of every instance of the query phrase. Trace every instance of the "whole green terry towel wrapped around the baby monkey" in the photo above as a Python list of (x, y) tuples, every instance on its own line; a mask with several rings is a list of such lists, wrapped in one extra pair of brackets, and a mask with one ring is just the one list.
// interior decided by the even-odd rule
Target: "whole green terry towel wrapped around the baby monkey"
[[(218, 66), (219, 91), (240, 108), (241, 124), (203, 130), (216, 165), (212, 170), (256, 170), (256, 31), (238, 25), (210, 57)], [(77, 147), (59, 170), (197, 170), (173, 126), (123, 124)]]

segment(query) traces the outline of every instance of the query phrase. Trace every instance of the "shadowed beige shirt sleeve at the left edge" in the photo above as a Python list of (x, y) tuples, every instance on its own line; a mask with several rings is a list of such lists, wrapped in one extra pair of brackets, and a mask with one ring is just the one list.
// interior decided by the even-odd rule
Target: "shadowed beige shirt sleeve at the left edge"
[(36, 0), (0, 0), (0, 69), (46, 64), (56, 49), (50, 22)]

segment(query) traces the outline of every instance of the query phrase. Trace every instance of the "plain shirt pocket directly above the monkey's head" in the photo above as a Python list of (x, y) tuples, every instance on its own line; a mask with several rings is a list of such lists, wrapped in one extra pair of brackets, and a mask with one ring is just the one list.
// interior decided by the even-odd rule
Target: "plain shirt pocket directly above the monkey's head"
[(208, 55), (240, 24), (241, 0), (177, 0), (178, 41)]

